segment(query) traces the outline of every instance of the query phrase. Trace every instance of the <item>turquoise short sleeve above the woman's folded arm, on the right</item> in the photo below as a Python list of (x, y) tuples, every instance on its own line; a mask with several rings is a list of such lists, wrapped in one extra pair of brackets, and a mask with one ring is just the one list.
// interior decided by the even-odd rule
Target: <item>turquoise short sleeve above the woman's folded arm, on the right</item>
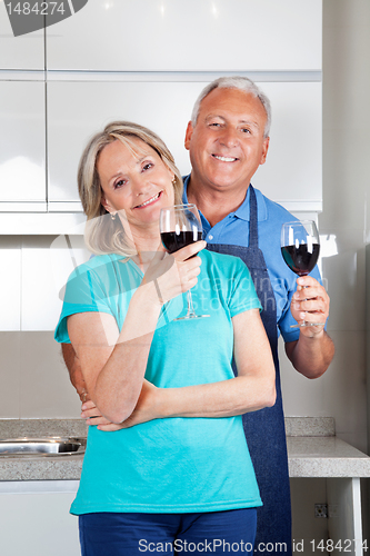
[(248, 267), (237, 257), (234, 259), (234, 269), (232, 276), (232, 288), (229, 299), (229, 310), (231, 317), (250, 309), (262, 310), (262, 306), (257, 296), (253, 280)]

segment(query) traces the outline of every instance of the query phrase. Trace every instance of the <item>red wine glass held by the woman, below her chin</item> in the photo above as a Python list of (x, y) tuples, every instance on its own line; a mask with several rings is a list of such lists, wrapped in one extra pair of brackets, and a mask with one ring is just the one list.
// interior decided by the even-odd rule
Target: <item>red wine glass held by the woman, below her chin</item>
[[(187, 245), (200, 241), (202, 231), (202, 222), (196, 205), (174, 205), (161, 210), (161, 240), (168, 252), (176, 252)], [(187, 291), (187, 315), (174, 320), (209, 317), (209, 315), (196, 314), (190, 290)]]

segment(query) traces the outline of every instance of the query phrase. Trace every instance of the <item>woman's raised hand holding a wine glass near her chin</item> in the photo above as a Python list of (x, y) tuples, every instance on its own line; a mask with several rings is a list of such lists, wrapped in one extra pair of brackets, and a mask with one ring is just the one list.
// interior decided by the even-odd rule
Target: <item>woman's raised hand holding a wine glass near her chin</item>
[(167, 255), (160, 246), (144, 274), (142, 286), (154, 284), (153, 294), (160, 305), (193, 288), (201, 265), (200, 257), (196, 255), (206, 246), (206, 241), (197, 241), (172, 255)]

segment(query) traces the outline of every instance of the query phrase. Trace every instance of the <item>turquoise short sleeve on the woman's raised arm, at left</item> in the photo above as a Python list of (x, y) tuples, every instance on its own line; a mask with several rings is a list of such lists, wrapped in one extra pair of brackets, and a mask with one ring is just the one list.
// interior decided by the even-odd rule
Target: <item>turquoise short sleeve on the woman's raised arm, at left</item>
[(89, 311), (112, 315), (102, 281), (93, 269), (82, 265), (68, 279), (63, 306), (56, 328), (56, 340), (61, 344), (70, 344), (67, 318), (71, 315)]

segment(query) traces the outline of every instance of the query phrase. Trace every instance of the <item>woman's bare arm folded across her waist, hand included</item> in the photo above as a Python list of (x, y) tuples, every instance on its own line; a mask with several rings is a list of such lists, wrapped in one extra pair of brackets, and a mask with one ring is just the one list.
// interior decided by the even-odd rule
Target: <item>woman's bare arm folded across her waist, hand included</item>
[(99, 425), (99, 428), (117, 430), (168, 417), (230, 417), (272, 406), (276, 371), (259, 310), (234, 316), (232, 325), (238, 377), (180, 388), (156, 388), (144, 381), (130, 417), (120, 427)]

